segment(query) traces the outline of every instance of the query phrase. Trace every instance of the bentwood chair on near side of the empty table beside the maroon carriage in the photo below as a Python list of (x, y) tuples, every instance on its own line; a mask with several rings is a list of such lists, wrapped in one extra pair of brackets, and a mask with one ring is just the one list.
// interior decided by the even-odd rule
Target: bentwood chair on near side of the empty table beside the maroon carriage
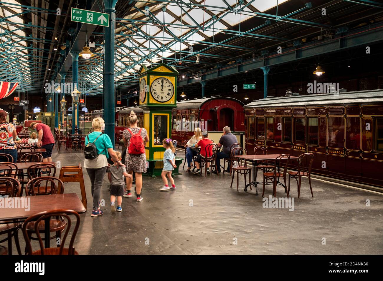
[[(285, 163), (283, 163), (285, 161)], [(283, 181), (285, 183), (285, 191), (287, 193), (288, 198), (288, 190), (286, 188), (286, 173), (287, 173), (287, 166), (288, 162), (290, 161), (290, 154), (281, 154), (278, 155), (274, 160), (274, 169), (272, 172), (264, 172), (264, 186), (263, 186), (263, 192), (262, 197), (265, 194), (265, 181), (267, 179), (271, 180), (273, 183), (273, 195), (274, 197), (277, 197), (277, 183), (279, 178), (283, 178)], [(281, 170), (283, 172), (281, 172)]]

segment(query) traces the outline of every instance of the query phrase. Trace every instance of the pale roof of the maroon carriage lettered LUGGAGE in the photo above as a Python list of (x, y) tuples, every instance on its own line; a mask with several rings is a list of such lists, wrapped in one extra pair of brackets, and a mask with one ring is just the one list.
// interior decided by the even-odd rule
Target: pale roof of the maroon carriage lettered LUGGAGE
[(345, 104), (361, 104), (383, 102), (382, 90), (354, 91), (335, 94), (310, 94), (291, 97), (267, 97), (252, 101), (244, 108), (254, 107), (282, 107), (282, 106), (318, 106)]

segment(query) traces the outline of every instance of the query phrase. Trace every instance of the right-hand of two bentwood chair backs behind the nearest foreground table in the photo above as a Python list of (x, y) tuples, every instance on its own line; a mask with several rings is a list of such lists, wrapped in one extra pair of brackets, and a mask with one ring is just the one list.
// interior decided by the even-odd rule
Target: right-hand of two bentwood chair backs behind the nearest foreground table
[[(58, 182), (57, 184), (56, 181)], [(25, 188), (27, 196), (56, 194), (58, 190), (64, 193), (64, 183), (57, 177), (31, 179)]]

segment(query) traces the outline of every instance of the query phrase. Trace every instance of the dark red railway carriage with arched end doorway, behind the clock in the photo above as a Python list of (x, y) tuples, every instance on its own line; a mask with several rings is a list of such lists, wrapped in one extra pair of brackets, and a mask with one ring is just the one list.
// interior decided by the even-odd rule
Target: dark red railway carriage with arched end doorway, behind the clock
[(194, 128), (209, 132), (229, 126), (233, 132), (245, 130), (243, 103), (232, 97), (203, 97), (177, 102), (172, 110), (172, 139), (182, 145), (194, 135)]

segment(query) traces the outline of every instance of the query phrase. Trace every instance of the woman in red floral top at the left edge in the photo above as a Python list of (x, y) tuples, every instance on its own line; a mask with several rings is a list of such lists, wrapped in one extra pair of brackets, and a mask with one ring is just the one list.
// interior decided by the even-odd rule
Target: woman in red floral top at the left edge
[[(13, 163), (17, 161), (16, 128), (7, 122), (7, 112), (0, 110), (0, 153), (12, 156)], [(0, 156), (0, 162), (7, 162), (5, 157)]]

